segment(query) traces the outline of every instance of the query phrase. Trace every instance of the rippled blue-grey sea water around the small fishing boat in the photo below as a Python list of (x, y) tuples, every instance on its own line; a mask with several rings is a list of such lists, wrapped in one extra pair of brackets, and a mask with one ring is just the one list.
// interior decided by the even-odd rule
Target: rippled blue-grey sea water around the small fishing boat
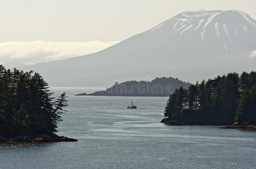
[(256, 168), (256, 132), (159, 123), (167, 99), (70, 96), (57, 134), (79, 141), (1, 144), (0, 168)]

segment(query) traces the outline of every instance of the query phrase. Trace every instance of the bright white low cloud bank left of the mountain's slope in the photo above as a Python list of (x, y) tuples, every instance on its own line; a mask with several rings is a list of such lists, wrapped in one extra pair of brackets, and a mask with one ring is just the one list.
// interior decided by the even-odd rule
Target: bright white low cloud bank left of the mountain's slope
[(29, 65), (62, 60), (92, 54), (116, 43), (118, 42), (3, 42), (0, 43), (0, 64), (15, 61)]

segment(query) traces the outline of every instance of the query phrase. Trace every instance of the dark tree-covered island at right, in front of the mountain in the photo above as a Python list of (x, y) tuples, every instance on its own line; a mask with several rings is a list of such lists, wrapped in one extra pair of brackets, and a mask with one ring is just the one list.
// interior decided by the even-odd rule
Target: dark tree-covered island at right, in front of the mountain
[(180, 87), (170, 95), (164, 116), (161, 122), (168, 124), (233, 124), (223, 128), (256, 130), (256, 72), (228, 73)]

